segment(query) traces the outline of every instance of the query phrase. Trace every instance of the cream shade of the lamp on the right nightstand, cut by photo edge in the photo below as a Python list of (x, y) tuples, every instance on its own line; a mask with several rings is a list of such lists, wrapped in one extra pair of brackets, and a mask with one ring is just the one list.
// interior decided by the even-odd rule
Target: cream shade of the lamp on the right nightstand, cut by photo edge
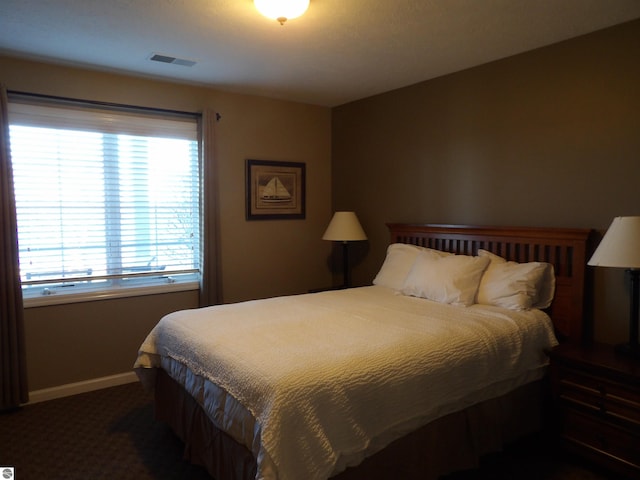
[(614, 218), (588, 265), (640, 268), (640, 216)]

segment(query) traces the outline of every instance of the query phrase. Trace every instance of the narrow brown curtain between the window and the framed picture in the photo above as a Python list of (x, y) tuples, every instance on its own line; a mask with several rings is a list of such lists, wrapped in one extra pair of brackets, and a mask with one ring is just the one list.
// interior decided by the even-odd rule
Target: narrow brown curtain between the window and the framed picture
[(218, 253), (218, 174), (214, 151), (214, 130), (217, 114), (205, 110), (200, 121), (200, 155), (202, 185), (201, 281), (200, 306), (221, 301), (220, 256)]

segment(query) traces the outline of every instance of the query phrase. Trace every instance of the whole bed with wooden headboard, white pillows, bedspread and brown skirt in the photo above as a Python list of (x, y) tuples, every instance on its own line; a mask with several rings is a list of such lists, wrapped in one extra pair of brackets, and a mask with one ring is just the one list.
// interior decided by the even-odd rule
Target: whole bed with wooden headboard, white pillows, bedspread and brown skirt
[(541, 428), (545, 351), (585, 335), (590, 231), (388, 227), (370, 286), (150, 332), (134, 368), (185, 458), (217, 480), (435, 479)]

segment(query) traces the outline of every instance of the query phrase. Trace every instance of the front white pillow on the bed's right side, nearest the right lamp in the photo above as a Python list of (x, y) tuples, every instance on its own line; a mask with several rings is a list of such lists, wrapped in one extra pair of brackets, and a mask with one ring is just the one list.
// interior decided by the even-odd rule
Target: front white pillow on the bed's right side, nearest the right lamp
[[(495, 305), (511, 310), (528, 310), (540, 304), (551, 304), (549, 289), (540, 295), (547, 279), (548, 271), (553, 267), (544, 262), (508, 262), (504, 258), (486, 250), (478, 250), (478, 256), (490, 259), (491, 263), (484, 272), (478, 288), (478, 303)], [(548, 282), (547, 282), (548, 283)], [(555, 276), (553, 276), (555, 286)], [(548, 306), (548, 305), (547, 305)]]

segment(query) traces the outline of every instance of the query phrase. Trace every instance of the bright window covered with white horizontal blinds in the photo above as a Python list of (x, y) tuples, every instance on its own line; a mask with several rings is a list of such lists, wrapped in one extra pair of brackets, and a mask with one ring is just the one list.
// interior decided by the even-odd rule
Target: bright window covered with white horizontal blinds
[(195, 115), (10, 97), (9, 123), (26, 305), (197, 286)]

